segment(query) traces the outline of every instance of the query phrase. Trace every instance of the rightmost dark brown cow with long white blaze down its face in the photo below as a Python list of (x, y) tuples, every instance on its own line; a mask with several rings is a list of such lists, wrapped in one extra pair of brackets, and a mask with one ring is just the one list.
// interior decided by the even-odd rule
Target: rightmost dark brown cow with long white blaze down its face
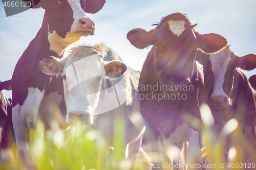
[[(256, 55), (249, 54), (238, 57), (226, 43), (216, 53), (206, 53), (198, 49), (196, 60), (203, 65), (206, 104), (215, 118), (215, 133), (220, 135), (224, 124), (228, 120), (236, 118), (245, 137), (243, 141), (247, 142), (248, 140), (252, 147), (250, 150), (255, 150), (256, 93), (240, 68), (254, 69)], [(250, 156), (246, 149), (248, 143), (239, 142), (237, 139), (233, 140), (230, 136), (225, 140), (226, 153), (231, 145), (241, 145), (243, 161), (248, 159)]]

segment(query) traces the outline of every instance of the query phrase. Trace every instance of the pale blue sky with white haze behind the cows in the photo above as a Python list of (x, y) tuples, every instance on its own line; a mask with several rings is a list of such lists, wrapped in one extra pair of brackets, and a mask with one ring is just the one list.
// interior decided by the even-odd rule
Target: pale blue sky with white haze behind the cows
[[(0, 5), (0, 81), (12, 77), (15, 65), (36, 36), (44, 17), (44, 9), (29, 9), (6, 17)], [(123, 62), (141, 70), (147, 53), (139, 50), (126, 38), (135, 28), (147, 31), (163, 16), (180, 12), (186, 14), (200, 34), (216, 33), (225, 37), (237, 56), (256, 54), (256, 1), (255, 0), (106, 0), (96, 14), (88, 14), (95, 21), (96, 33), (79, 41), (88, 45), (103, 42), (112, 48)], [(256, 70), (246, 71), (246, 76)], [(4, 90), (7, 98), (11, 91)]]

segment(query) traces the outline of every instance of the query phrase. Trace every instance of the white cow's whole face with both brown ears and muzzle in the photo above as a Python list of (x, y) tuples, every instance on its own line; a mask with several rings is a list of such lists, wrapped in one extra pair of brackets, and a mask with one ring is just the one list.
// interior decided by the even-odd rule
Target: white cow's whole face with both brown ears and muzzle
[(61, 60), (41, 60), (39, 67), (48, 75), (63, 76), (66, 122), (69, 124), (75, 117), (92, 124), (102, 78), (117, 78), (126, 70), (126, 66), (119, 61), (103, 61), (101, 54), (88, 46), (73, 48), (72, 53)]

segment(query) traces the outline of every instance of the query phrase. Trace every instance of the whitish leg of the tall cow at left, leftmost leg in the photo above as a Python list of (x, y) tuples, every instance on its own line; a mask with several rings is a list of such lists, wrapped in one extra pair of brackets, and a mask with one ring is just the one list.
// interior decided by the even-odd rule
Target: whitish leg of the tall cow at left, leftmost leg
[(24, 122), (24, 119), (22, 118), (20, 105), (17, 104), (15, 107), (13, 107), (12, 111), (12, 122), (14, 135), (16, 138), (17, 156), (24, 161), (28, 169), (34, 169), (34, 166), (31, 163), (31, 158), (26, 149), (28, 142), (28, 128)]

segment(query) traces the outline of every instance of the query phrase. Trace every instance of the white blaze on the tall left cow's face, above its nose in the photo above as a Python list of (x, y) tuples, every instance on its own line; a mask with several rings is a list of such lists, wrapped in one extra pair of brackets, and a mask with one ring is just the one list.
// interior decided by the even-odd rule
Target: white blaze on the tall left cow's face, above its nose
[(79, 19), (88, 19), (92, 20), (86, 13), (82, 10), (79, 0), (68, 0), (72, 10), (73, 10), (73, 18), (74, 22), (71, 26), (71, 33), (76, 31), (81, 31), (81, 26), (79, 23)]

